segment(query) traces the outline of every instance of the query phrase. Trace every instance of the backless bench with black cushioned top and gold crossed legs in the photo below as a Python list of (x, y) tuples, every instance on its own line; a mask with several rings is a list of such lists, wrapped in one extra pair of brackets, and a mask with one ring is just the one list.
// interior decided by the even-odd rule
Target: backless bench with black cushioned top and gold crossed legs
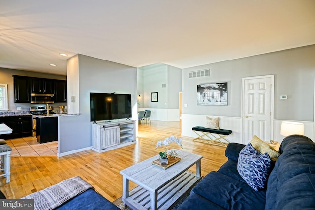
[(224, 129), (211, 129), (201, 126), (196, 126), (192, 128), (198, 137), (194, 138), (193, 141), (205, 142), (208, 144), (219, 145), (226, 147), (230, 143), (225, 137), (232, 133), (231, 130)]

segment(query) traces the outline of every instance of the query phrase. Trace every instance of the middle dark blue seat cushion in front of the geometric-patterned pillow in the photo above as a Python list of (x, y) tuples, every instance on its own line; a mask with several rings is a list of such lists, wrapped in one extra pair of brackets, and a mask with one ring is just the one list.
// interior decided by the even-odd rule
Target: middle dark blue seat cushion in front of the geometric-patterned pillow
[(210, 172), (192, 192), (230, 210), (264, 210), (266, 191), (256, 192), (247, 183), (219, 172)]

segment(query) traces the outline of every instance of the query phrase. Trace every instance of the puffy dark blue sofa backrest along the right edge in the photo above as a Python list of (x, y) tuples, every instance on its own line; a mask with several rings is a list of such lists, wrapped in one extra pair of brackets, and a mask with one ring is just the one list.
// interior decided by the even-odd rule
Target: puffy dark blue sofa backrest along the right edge
[[(294, 184), (292, 180), (298, 182), (297, 179), (302, 179), (303, 176), (300, 177), (302, 174), (309, 174), (309, 184), (310, 186), (313, 184), (313, 190), (315, 189), (314, 178), (313, 181), (311, 179), (314, 176), (313, 174), (315, 174), (315, 144), (306, 136), (291, 135), (282, 141), (279, 152), (281, 155), (276, 161), (268, 179), (266, 210), (273, 210), (276, 206), (278, 209), (285, 209), (283, 205), (286, 203), (291, 204), (289, 209), (303, 209), (300, 202), (304, 203), (304, 201), (307, 201), (307, 196), (304, 193), (307, 194), (310, 190), (304, 188), (303, 184)], [(303, 181), (306, 182), (306, 180)], [(301, 194), (305, 196), (305, 200), (303, 201), (299, 198), (291, 199), (292, 202), (289, 202), (283, 196), (287, 193), (292, 195), (294, 194), (293, 192), (297, 193), (295, 195)], [(308, 204), (313, 205), (312, 207), (315, 208), (314, 203)], [(286, 207), (288, 206), (286, 205)]]

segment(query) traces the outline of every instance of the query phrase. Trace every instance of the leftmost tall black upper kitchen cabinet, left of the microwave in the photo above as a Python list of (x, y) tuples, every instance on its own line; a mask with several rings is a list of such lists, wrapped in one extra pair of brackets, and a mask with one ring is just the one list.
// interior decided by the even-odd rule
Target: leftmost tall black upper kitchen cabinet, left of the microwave
[(30, 91), (29, 91), (29, 77), (13, 76), (14, 78), (14, 102), (15, 103), (29, 103)]

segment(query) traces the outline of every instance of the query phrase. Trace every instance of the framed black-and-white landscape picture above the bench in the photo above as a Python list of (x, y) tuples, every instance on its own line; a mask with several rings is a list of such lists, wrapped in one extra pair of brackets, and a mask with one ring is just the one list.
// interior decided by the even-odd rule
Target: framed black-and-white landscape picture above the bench
[(227, 83), (197, 85), (197, 105), (227, 106)]

